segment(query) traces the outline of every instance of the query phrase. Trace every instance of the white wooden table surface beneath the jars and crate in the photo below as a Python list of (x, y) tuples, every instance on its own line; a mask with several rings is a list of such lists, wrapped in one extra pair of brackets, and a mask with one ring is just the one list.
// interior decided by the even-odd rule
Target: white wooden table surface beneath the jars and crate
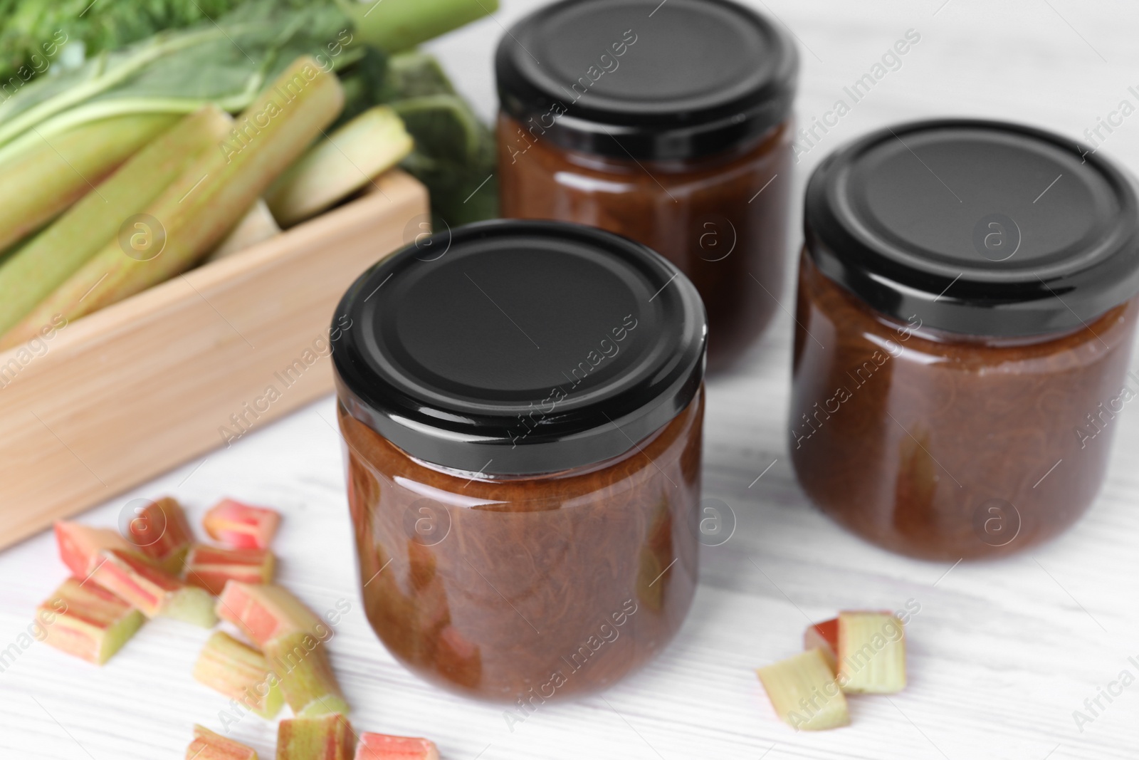
[[(921, 35), (902, 67), (787, 178), (795, 197), (822, 155), (884, 123), (968, 114), (1075, 137), (1121, 100), (1139, 106), (1128, 90), (1139, 91), (1133, 0), (754, 2), (802, 44), (802, 123), (828, 111), (907, 30)], [(503, 0), (495, 18), (432, 46), (485, 116), (494, 108), (500, 25), (536, 5)], [(1139, 167), (1137, 138), (1139, 114), (1115, 128), (1104, 150)], [(317, 610), (341, 598), (352, 605), (330, 647), (355, 725), (431, 736), (449, 760), (1139, 757), (1139, 685), (1111, 703), (1100, 697), (1106, 709), (1082, 732), (1073, 719), (1121, 671), (1139, 676), (1139, 403), (1115, 423), (1099, 499), (1062, 539), (999, 563), (951, 569), (904, 559), (839, 530), (795, 483), (785, 425), (789, 322), (785, 314), (745, 366), (710, 384), (705, 496), (728, 502), (738, 528), (704, 550), (695, 605), (674, 644), (604, 698), (546, 705), (513, 733), (500, 709), (420, 683), (371, 634), (358, 597), (331, 399), (82, 520), (113, 525), (129, 499), (162, 493), (181, 499), (195, 520), (222, 495), (276, 505), (286, 513), (274, 547), (281, 582)], [(64, 577), (47, 533), (0, 554), (0, 649), (17, 641)], [(794, 653), (808, 618), (907, 599), (921, 611), (909, 626), (904, 693), (853, 700), (853, 725), (842, 730), (796, 734), (776, 720), (754, 667)], [(190, 725), (220, 728), (226, 709), (189, 676), (206, 636), (155, 621), (103, 669), (39, 644), (22, 649), (0, 672), (0, 757), (181, 758)], [(273, 757), (271, 724), (247, 717), (232, 732)]]

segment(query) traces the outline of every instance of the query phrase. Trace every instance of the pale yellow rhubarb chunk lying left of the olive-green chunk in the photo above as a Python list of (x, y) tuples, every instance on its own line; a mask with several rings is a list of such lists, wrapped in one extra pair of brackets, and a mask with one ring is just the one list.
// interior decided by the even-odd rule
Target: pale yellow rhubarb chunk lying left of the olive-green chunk
[(229, 634), (218, 631), (210, 637), (194, 665), (194, 678), (262, 718), (271, 720), (285, 704), (265, 655)]

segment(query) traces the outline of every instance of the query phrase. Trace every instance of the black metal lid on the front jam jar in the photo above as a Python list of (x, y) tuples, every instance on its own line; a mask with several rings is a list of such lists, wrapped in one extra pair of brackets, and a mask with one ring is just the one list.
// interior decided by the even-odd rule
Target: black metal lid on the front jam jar
[(696, 288), (591, 227), (500, 220), (384, 259), (341, 300), (333, 361), (349, 412), (408, 453), (486, 474), (630, 450), (704, 377)]

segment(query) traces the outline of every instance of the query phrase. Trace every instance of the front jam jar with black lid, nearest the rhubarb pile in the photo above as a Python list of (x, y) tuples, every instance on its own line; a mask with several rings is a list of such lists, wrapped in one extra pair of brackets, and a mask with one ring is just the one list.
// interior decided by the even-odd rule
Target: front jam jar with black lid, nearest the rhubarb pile
[(492, 221), (377, 263), (334, 324), (364, 608), (388, 651), (522, 717), (656, 656), (696, 587), (693, 284), (603, 230)]

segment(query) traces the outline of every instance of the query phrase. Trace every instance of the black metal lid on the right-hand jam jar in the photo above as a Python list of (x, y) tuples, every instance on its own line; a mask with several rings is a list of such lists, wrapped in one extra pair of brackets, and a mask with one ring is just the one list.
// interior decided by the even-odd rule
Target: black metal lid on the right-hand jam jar
[(1133, 179), (1051, 132), (925, 121), (841, 148), (806, 188), (808, 250), (877, 311), (981, 336), (1077, 328), (1139, 293)]

